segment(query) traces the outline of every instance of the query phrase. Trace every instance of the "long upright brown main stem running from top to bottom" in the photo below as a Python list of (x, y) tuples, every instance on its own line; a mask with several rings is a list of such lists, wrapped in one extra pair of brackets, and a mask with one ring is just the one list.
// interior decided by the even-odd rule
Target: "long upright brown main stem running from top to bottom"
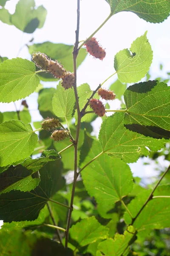
[(70, 203), (70, 210), (68, 212), (68, 220), (67, 220), (67, 228), (65, 231), (65, 247), (67, 248), (68, 245), (68, 234), (71, 222), (71, 212), (73, 209), (73, 201), (74, 201), (74, 192), (76, 188), (76, 181), (77, 181), (77, 147), (79, 141), (79, 130), (80, 130), (80, 123), (81, 123), (81, 115), (79, 109), (79, 98), (77, 94), (77, 55), (79, 53), (78, 45), (79, 45), (79, 18), (80, 18), (80, 0), (77, 0), (77, 30), (76, 30), (76, 42), (73, 49), (73, 64), (74, 64), (74, 95), (76, 100), (76, 107), (77, 107), (77, 133), (76, 133), (76, 143), (74, 145), (74, 181), (73, 181), (73, 188), (71, 192), (71, 203)]

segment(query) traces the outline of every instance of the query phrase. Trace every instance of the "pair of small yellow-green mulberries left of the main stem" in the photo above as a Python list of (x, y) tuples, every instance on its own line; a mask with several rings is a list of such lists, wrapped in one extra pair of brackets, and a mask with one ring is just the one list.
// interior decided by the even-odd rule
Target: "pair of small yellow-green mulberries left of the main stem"
[[(60, 127), (60, 122), (59, 119), (56, 118), (49, 118), (47, 117), (46, 119), (43, 120), (41, 123), (41, 127), (44, 130), (54, 130), (57, 127)], [(61, 141), (65, 140), (65, 138), (68, 137), (68, 131), (60, 128), (59, 130), (53, 131), (51, 134), (51, 139), (54, 141)]]

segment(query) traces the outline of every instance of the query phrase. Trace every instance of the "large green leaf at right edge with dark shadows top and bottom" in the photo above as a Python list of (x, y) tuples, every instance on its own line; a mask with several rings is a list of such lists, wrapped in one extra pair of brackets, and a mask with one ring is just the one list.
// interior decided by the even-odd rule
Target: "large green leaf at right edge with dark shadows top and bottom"
[(170, 87), (163, 82), (133, 84), (124, 93), (125, 127), (153, 138), (170, 138)]

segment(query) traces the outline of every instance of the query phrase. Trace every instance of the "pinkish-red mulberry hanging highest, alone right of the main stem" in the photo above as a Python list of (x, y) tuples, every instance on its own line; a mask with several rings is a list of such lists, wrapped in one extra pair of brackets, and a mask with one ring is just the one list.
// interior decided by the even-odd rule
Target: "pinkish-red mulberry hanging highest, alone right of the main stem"
[(85, 43), (85, 47), (87, 49), (87, 52), (89, 52), (92, 56), (95, 58), (99, 58), (102, 60), (105, 58), (106, 52), (105, 49), (103, 49), (99, 43), (96, 41), (96, 38), (91, 38)]

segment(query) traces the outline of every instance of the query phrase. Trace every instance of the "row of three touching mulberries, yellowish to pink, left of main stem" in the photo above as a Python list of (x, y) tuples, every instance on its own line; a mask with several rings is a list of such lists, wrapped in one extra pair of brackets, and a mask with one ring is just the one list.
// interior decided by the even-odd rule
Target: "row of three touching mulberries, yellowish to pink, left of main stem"
[(69, 89), (74, 84), (74, 73), (66, 71), (65, 68), (58, 62), (48, 58), (47, 55), (41, 52), (34, 52), (32, 61), (42, 70), (50, 72), (55, 78), (62, 79), (62, 87)]

